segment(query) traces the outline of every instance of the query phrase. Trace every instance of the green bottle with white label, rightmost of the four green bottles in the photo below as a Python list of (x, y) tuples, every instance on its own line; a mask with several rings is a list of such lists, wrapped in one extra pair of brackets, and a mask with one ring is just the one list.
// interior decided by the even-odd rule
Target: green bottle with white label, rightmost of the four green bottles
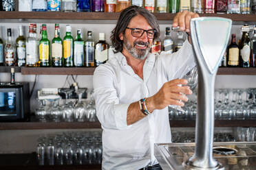
[(84, 66), (85, 62), (85, 52), (84, 45), (85, 42), (81, 38), (81, 29), (77, 30), (76, 40), (74, 40), (74, 66)]

